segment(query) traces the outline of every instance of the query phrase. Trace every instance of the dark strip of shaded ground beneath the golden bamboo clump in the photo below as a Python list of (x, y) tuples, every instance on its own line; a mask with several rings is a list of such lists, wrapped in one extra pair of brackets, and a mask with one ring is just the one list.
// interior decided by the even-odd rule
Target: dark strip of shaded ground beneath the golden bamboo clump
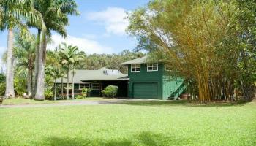
[(230, 107), (244, 106), (246, 102), (211, 102), (208, 104), (200, 104), (195, 101), (178, 100), (178, 101), (122, 101), (118, 104), (140, 105), (140, 106), (184, 106), (184, 107)]

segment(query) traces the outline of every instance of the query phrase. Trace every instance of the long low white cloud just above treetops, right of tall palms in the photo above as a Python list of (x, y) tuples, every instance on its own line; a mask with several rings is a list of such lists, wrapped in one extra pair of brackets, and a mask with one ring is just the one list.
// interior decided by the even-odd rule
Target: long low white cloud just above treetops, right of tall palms
[(48, 45), (48, 49), (54, 49), (61, 44), (61, 42), (66, 42), (68, 45), (78, 46), (79, 50), (83, 50), (87, 54), (113, 53), (113, 49), (111, 47), (100, 45), (99, 42), (91, 39), (73, 36), (67, 36), (67, 39), (64, 39), (60, 35), (53, 34), (52, 40), (53, 43)]

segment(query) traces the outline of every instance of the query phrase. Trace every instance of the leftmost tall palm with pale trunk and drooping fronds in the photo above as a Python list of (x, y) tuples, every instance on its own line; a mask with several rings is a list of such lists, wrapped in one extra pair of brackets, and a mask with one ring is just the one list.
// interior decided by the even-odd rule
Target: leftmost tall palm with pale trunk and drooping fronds
[(37, 12), (31, 8), (31, 0), (1, 0), (0, 1), (0, 29), (8, 29), (7, 37), (7, 77), (5, 98), (15, 96), (14, 92), (14, 58), (13, 52), (13, 30), (20, 28), (21, 31), (27, 31), (27, 26), (24, 21), (39, 20)]

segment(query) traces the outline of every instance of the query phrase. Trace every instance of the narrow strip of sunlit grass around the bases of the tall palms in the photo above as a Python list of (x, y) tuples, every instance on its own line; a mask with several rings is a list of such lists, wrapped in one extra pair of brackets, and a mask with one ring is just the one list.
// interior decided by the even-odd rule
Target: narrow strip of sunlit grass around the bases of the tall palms
[[(89, 97), (86, 99), (75, 99), (75, 100), (68, 100), (68, 101), (99, 101), (99, 100), (110, 100), (110, 99), (104, 99), (101, 97)], [(67, 100), (58, 100), (58, 101), (50, 101), (50, 100), (44, 100), (44, 101), (35, 101), (32, 99), (22, 99), (22, 98), (15, 98), (15, 99), (4, 99), (3, 105), (15, 105), (15, 104), (53, 104), (53, 103), (59, 103), (59, 102), (67, 102)]]

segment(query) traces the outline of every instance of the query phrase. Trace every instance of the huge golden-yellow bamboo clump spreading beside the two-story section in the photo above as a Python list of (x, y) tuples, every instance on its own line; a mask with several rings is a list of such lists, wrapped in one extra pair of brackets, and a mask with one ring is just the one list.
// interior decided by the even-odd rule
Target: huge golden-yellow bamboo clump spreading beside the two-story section
[(194, 81), (200, 101), (211, 101), (216, 86), (210, 81), (217, 82), (224, 72), (219, 48), (228, 32), (228, 21), (217, 11), (214, 0), (150, 1), (132, 12), (129, 21), (127, 31), (140, 45), (153, 44), (148, 50), (157, 50), (157, 58), (172, 66), (176, 75)]

